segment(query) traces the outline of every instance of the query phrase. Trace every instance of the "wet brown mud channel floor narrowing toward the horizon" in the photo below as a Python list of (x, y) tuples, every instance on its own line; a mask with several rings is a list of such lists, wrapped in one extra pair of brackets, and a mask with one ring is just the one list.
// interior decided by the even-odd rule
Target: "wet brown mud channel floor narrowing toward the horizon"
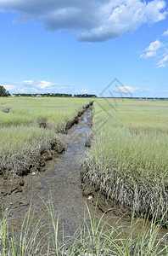
[[(77, 124), (70, 124), (67, 133), (59, 134), (66, 148), (64, 154), (53, 154), (53, 159), (46, 161), (41, 172), (30, 172), (16, 180), (16, 184), (8, 179), (8, 191), (3, 194), (2, 206), (10, 212), (9, 222), (12, 222), (14, 230), (19, 229), (30, 205), (31, 212), (34, 212), (33, 223), (42, 218), (41, 223), (49, 227), (48, 210), (42, 201), (48, 203), (51, 198), (55, 215), (60, 215), (60, 230), (64, 225), (64, 236), (72, 236), (79, 227), (86, 201), (81, 191), (80, 168), (92, 126), (92, 106), (82, 112), (78, 114)], [(3, 184), (5, 182), (3, 178)], [(46, 232), (46, 229), (42, 230), (41, 235)]]

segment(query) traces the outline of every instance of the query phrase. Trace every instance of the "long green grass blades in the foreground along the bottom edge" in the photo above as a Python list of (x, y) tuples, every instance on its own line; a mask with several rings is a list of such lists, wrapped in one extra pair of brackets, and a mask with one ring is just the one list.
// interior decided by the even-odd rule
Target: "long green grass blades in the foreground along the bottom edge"
[[(5, 212), (0, 221), (0, 255), (2, 256), (156, 256), (167, 255), (167, 234), (160, 238), (160, 224), (155, 218), (148, 225), (146, 220), (130, 224), (129, 230), (124, 226), (115, 228), (108, 221), (104, 221), (104, 214), (97, 217), (96, 211), (91, 213), (86, 205), (83, 221), (79, 224), (74, 236), (59, 240), (59, 217), (54, 215), (52, 201), (49, 205), (48, 216), (53, 229), (42, 237), (38, 236), (41, 220), (31, 226), (33, 214), (31, 207), (21, 225), (17, 235), (11, 231), (8, 212)], [(133, 219), (133, 216), (132, 216)], [(9, 232), (10, 231), (10, 232)], [(45, 233), (45, 232), (43, 232)]]

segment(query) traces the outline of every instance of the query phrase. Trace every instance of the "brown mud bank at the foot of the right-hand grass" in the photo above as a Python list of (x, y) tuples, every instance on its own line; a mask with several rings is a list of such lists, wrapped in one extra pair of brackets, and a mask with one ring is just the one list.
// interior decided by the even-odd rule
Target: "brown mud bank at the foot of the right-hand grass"
[[(87, 204), (91, 209), (91, 212), (95, 212), (98, 215), (98, 218), (101, 218), (104, 214), (104, 221), (107, 221), (108, 224), (111, 224), (120, 232), (125, 232), (129, 236), (131, 223), (135, 224), (136, 228), (134, 230), (133, 237), (136, 238), (141, 231), (144, 218), (136, 217), (132, 219), (132, 213), (129, 207), (123, 207), (117, 204), (115, 201), (110, 201), (107, 198), (107, 195), (100, 191), (98, 187), (92, 186), (91, 181), (86, 177), (86, 172), (81, 166), (81, 190), (82, 195), (87, 199)], [(89, 199), (89, 200), (88, 200)], [(146, 220), (147, 230), (151, 230), (151, 221)], [(167, 229), (164, 226), (160, 226), (158, 239), (161, 239), (163, 236), (167, 236)]]

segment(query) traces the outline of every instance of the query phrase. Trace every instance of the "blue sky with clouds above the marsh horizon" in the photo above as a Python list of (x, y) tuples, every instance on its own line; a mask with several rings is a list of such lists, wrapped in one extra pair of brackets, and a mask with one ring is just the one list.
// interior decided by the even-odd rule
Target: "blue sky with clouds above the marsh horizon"
[(168, 97), (167, 12), (162, 0), (0, 0), (0, 84)]

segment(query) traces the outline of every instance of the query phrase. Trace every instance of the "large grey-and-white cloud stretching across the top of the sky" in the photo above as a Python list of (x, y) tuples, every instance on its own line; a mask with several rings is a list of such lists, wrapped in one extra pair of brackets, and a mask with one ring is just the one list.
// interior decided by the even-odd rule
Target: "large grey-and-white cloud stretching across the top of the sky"
[(164, 20), (164, 0), (0, 0), (0, 10), (38, 20), (50, 31), (76, 32), (79, 41), (99, 42)]

